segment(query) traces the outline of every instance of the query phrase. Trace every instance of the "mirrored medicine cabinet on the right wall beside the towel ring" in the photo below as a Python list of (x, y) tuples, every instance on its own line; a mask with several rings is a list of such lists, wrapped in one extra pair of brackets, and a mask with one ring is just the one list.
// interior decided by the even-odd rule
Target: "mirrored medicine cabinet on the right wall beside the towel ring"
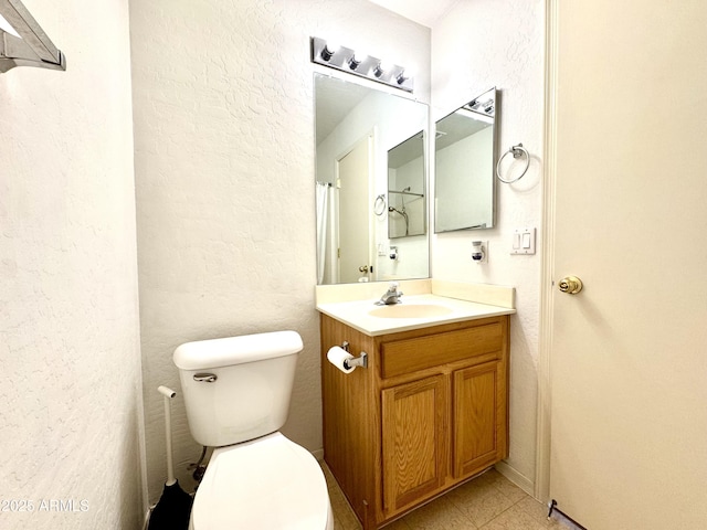
[(492, 88), (435, 125), (435, 233), (494, 226), (496, 99)]

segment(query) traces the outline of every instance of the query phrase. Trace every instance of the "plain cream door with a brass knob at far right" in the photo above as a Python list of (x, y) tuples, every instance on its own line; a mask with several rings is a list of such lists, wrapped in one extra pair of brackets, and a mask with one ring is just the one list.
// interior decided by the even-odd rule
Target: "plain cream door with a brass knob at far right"
[(550, 497), (590, 530), (707, 528), (707, 2), (549, 7)]

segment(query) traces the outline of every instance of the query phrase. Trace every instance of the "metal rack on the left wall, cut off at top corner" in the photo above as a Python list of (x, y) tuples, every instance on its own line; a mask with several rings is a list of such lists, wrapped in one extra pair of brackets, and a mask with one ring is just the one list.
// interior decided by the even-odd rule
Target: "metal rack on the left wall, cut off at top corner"
[(66, 70), (66, 59), (20, 0), (0, 0), (0, 73), (15, 66)]

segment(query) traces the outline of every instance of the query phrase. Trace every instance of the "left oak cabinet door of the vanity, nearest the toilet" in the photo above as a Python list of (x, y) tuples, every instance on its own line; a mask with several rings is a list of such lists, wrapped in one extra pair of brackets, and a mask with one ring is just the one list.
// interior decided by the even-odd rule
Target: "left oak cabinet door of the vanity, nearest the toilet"
[(381, 393), (386, 517), (444, 484), (450, 439), (446, 381), (433, 375)]

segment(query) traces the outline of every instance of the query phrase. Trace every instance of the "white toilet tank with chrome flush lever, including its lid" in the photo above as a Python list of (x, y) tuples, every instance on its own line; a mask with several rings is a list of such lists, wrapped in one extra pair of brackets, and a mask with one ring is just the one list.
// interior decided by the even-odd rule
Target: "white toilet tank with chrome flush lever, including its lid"
[(187, 342), (175, 350), (187, 420), (201, 445), (278, 431), (287, 420), (302, 338), (296, 331)]

